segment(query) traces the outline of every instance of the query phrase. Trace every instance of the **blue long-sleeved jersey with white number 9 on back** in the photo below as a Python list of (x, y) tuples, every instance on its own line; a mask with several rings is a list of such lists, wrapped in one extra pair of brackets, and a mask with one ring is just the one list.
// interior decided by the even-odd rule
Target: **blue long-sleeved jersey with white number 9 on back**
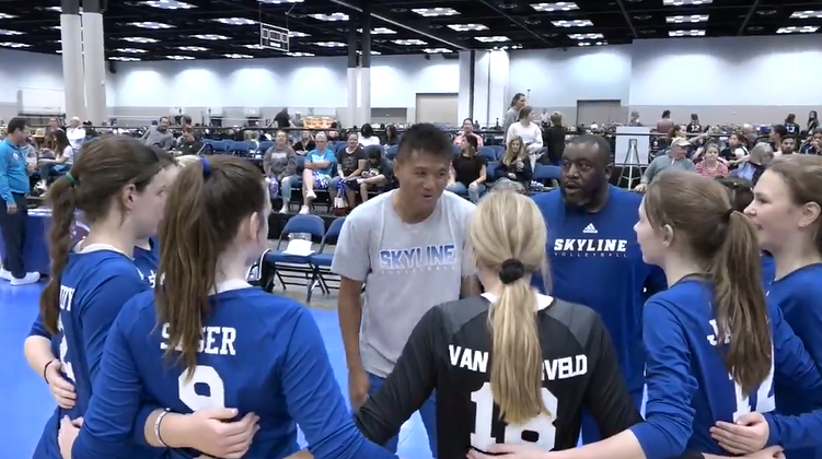
[(123, 308), (73, 457), (124, 457), (124, 444), (144, 442), (141, 405), (159, 405), (178, 413), (215, 408), (256, 413), (261, 429), (248, 459), (298, 451), (297, 423), (317, 459), (395, 458), (355, 426), (304, 306), (241, 281), (218, 291), (190, 378), (182, 363), (165, 356), (174, 344), (167, 323), (158, 326), (152, 292)]

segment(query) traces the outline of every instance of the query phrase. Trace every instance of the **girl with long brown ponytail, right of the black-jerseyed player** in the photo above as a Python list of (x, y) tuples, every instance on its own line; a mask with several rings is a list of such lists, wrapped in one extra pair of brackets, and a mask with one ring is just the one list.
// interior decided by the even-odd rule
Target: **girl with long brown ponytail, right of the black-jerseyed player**
[[(811, 403), (822, 399), (819, 370), (765, 302), (755, 229), (719, 184), (686, 172), (660, 175), (635, 229), (642, 258), (661, 267), (669, 284), (644, 310), (646, 422), (547, 457), (663, 459), (686, 448), (721, 455), (710, 437), (715, 422), (773, 411), (774, 380), (789, 381)], [(536, 457), (514, 452), (511, 459)]]

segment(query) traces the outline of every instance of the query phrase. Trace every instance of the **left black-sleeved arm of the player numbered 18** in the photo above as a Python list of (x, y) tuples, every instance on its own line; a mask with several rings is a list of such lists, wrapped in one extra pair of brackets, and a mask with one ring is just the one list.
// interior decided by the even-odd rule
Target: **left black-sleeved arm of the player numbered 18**
[(366, 438), (385, 444), (431, 396), (438, 369), (435, 342), (442, 334), (442, 309), (433, 307), (414, 327), (380, 390), (355, 414), (355, 423)]

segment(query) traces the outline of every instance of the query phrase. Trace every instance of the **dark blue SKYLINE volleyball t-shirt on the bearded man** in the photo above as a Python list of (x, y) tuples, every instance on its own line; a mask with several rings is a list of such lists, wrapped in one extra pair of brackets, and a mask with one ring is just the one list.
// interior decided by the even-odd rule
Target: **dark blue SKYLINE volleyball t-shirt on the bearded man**
[[(551, 294), (602, 316), (628, 390), (641, 393), (642, 305), (667, 285), (662, 270), (642, 262), (636, 240), (641, 195), (610, 187), (607, 202), (597, 213), (566, 205), (559, 190), (533, 199), (548, 226)], [(534, 276), (534, 284), (545, 291), (541, 276)]]

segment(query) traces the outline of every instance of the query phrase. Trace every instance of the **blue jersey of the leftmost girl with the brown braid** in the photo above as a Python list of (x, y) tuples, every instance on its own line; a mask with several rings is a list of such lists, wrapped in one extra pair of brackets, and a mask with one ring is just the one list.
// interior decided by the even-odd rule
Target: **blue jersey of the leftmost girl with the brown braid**
[(146, 290), (140, 273), (125, 254), (111, 246), (90, 245), (69, 255), (60, 279), (57, 321), (58, 356), (67, 379), (74, 384), (74, 408), (57, 408), (46, 424), (35, 459), (59, 458), (57, 428), (63, 416), (81, 417), (92, 398), (103, 348), (123, 305)]

